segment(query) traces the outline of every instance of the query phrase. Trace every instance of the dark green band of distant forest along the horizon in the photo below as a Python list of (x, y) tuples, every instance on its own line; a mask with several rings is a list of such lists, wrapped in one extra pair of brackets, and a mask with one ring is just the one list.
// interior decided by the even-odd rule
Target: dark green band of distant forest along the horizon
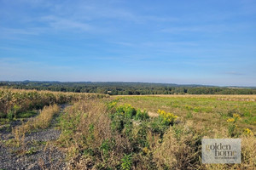
[(218, 87), (150, 82), (0, 82), (0, 87), (110, 95), (256, 94), (255, 87)]

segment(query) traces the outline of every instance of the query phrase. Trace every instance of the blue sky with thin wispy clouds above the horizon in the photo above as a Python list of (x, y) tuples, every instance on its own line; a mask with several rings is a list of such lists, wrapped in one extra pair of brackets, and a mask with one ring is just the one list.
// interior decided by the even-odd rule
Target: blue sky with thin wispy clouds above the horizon
[(256, 86), (255, 0), (0, 0), (0, 81)]

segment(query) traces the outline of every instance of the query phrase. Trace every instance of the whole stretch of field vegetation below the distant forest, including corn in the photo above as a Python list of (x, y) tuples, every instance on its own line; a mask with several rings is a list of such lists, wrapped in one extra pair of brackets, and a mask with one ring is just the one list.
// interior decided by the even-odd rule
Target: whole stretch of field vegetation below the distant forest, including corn
[[(52, 147), (65, 155), (62, 167), (38, 160), (39, 169), (256, 167), (255, 95), (108, 96), (3, 88), (0, 94), (0, 152), (9, 148), (31, 159)], [(47, 142), (26, 139), (52, 131), (58, 135)], [(203, 138), (240, 138), (241, 164), (202, 164)], [(7, 168), (3, 162), (8, 163), (0, 160), (0, 168)]]

